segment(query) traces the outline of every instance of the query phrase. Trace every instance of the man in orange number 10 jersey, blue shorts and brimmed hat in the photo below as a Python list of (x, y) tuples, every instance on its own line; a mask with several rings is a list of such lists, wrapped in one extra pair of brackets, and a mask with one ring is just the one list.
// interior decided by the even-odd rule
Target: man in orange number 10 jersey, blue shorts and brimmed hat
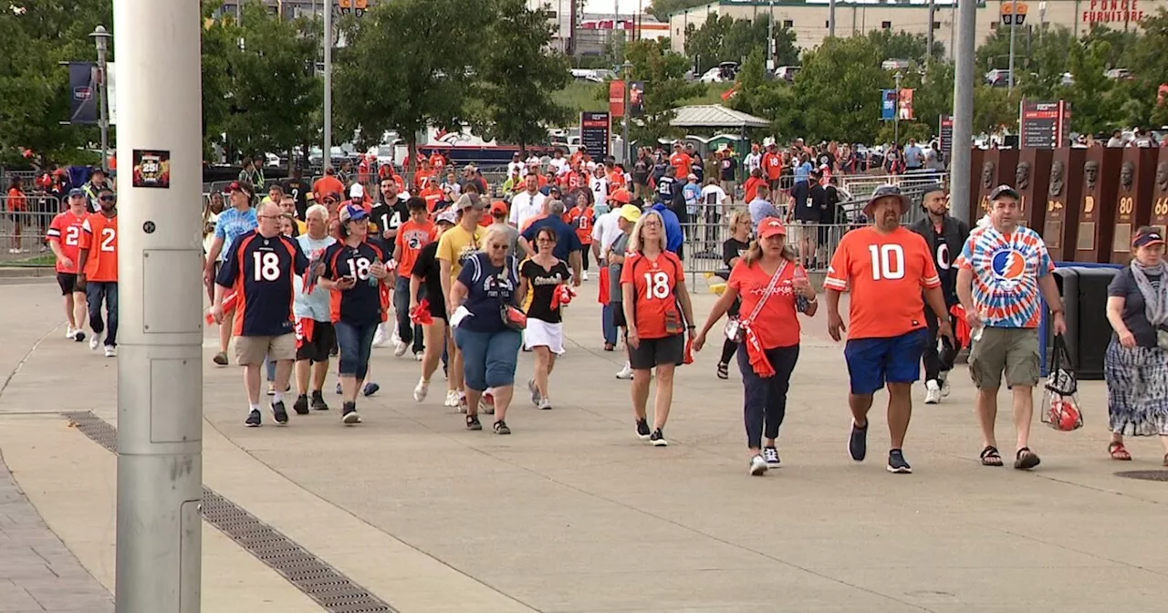
[(938, 329), (953, 342), (953, 327), (941, 294), (937, 266), (920, 235), (901, 227), (909, 201), (895, 186), (881, 186), (864, 207), (872, 225), (843, 235), (823, 281), (832, 339), (847, 330), (840, 316), (840, 293), (850, 288), (848, 342), (843, 350), (851, 379), (848, 405), (855, 461), (868, 453), (868, 410), (872, 393), (888, 384), (890, 473), (911, 473), (902, 446), (912, 417), (912, 384), (920, 375), (920, 355), (929, 339), (922, 290), (937, 314)]

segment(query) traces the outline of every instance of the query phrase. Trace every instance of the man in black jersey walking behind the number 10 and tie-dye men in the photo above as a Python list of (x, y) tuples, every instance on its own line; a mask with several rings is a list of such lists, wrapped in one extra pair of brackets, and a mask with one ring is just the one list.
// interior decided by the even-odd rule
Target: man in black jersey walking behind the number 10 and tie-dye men
[[(941, 280), (941, 293), (945, 306), (953, 308), (957, 300), (957, 266), (953, 262), (969, 238), (969, 225), (948, 215), (948, 195), (940, 184), (926, 187), (920, 197), (920, 207), (927, 217), (912, 224), (909, 229), (925, 238), (929, 251), (937, 265), (937, 276)], [(957, 318), (951, 313), (950, 320), (957, 325)], [(943, 339), (941, 350), (937, 346), (937, 316), (925, 309), (925, 322), (929, 325), (929, 344), (923, 356), (925, 363), (925, 404), (937, 404), (941, 397), (948, 396), (948, 371), (953, 369), (953, 360), (959, 347)]]

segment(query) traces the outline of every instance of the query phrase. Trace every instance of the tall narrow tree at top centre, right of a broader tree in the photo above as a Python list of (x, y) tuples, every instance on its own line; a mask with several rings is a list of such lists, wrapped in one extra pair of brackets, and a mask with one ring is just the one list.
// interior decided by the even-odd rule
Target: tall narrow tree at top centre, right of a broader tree
[(543, 142), (548, 126), (568, 123), (571, 109), (548, 93), (571, 82), (570, 62), (548, 51), (554, 28), (523, 0), (494, 0), (496, 19), (488, 30), (491, 51), (480, 69), (479, 98), (485, 113), (475, 132), (487, 139), (519, 145)]

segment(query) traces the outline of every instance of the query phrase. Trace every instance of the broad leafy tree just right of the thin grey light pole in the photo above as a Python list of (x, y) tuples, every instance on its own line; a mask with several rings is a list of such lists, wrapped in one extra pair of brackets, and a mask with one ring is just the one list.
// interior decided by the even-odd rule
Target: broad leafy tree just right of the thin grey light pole
[[(378, 2), (346, 30), (333, 78), (339, 128), (368, 145), (396, 130), (415, 159), (418, 134), (433, 125), (460, 128), (491, 22), (491, 2)], [(550, 93), (550, 92), (549, 92)]]

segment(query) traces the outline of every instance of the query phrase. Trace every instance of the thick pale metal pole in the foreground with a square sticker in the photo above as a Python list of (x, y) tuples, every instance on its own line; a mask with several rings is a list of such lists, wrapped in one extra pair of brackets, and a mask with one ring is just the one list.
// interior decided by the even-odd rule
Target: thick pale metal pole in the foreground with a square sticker
[(201, 605), (199, 14), (190, 0), (113, 1), (127, 169), (118, 182), (117, 613)]

